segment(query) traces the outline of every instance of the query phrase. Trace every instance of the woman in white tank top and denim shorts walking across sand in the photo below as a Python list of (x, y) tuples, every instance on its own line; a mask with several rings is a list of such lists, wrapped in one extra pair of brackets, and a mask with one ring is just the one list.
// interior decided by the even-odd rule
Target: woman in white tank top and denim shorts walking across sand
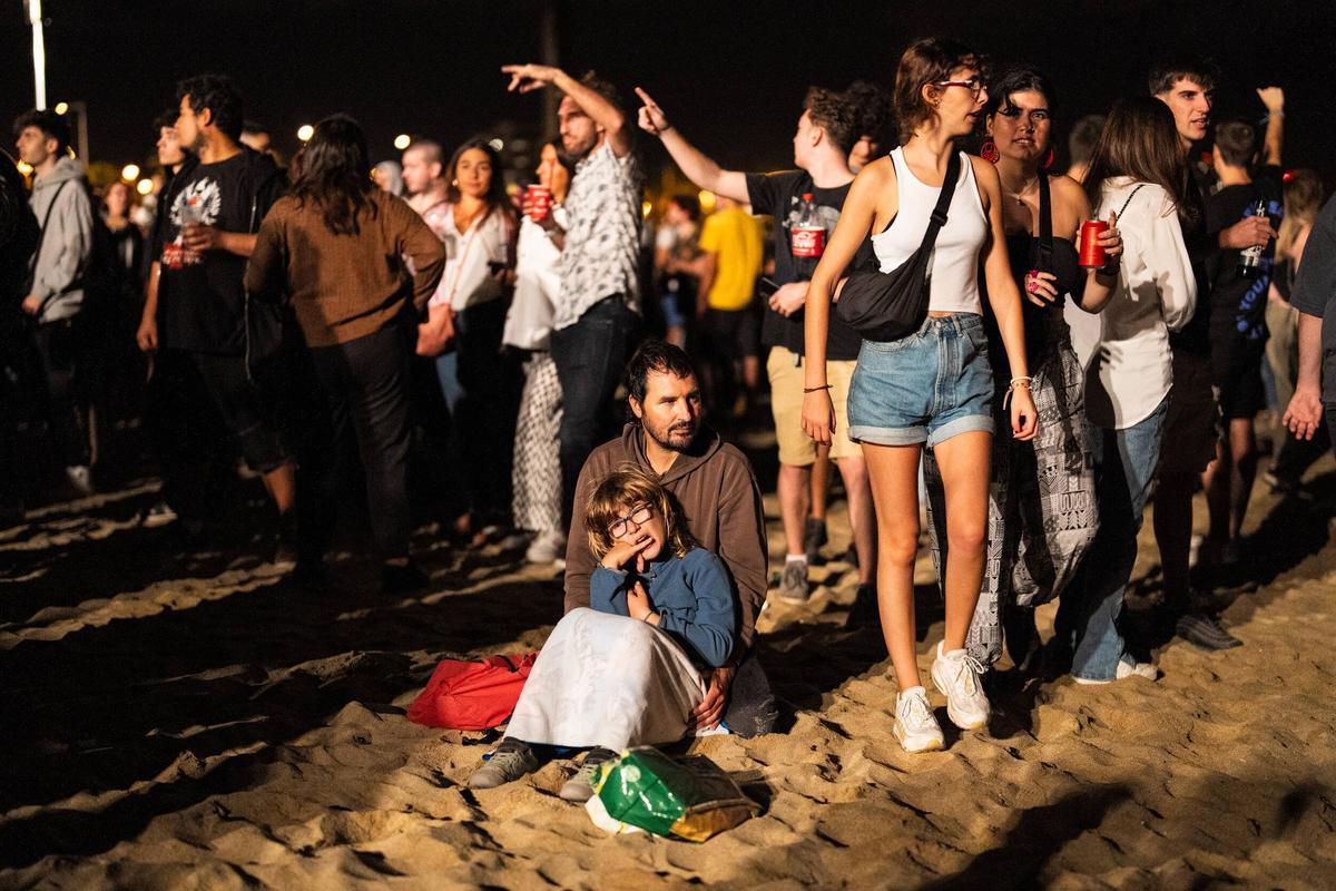
[[(890, 271), (918, 250), (941, 194), (954, 140), (970, 134), (987, 102), (977, 53), (950, 40), (921, 40), (904, 51), (895, 104), (904, 144), (859, 172), (839, 224), (807, 291), (807, 374), (803, 429), (830, 442), (834, 411), (826, 381), (826, 330), (836, 281), (868, 234)], [(910, 752), (939, 749), (942, 731), (919, 683), (914, 649), (914, 560), (918, 553), (918, 472), (925, 443), (941, 466), (949, 552), (943, 568), (946, 636), (933, 660), (933, 683), (962, 729), (983, 728), (989, 700), (983, 668), (965, 652), (983, 580), (989, 456), (993, 446), (993, 373), (981, 318), (978, 269), (983, 260), (990, 307), (1015, 375), (1011, 434), (1033, 438), (1037, 413), (1029, 393), (1021, 293), (1011, 277), (1002, 228), (997, 170), (962, 156), (947, 222), (930, 264), (929, 318), (890, 343), (864, 341), (848, 393), (850, 435), (863, 443), (878, 529), (878, 601), (882, 633), (899, 697), (895, 736)]]

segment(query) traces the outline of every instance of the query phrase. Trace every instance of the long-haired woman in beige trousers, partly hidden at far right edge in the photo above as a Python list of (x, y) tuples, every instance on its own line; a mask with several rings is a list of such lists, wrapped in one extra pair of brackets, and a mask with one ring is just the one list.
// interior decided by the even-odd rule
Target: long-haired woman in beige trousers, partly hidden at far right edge
[[(1267, 361), (1276, 378), (1276, 403), (1285, 411), (1295, 397), (1299, 379), (1299, 310), (1289, 305), (1289, 294), (1304, 262), (1304, 246), (1313, 228), (1317, 211), (1323, 207), (1325, 190), (1321, 178), (1312, 170), (1285, 174), (1284, 208), (1276, 236), (1276, 264), (1272, 267), (1271, 289), (1267, 294)], [(1280, 414), (1277, 413), (1277, 414)], [(1263, 477), (1277, 492), (1299, 490), (1299, 478), (1308, 466), (1327, 452), (1325, 429), (1319, 427), (1313, 439), (1297, 439), (1285, 425), (1277, 423), (1273, 453), (1276, 460), (1263, 472)]]

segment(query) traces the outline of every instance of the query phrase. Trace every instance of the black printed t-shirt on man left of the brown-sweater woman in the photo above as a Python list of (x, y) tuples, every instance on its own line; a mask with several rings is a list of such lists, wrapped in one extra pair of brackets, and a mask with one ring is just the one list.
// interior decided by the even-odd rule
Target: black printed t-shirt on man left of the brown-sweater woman
[(183, 170), (160, 211), (158, 335), (163, 347), (242, 355), (246, 350), (246, 258), (231, 251), (204, 254), (180, 240), (183, 214), (224, 232), (254, 232), (278, 200), (282, 178), (274, 162), (248, 150), (214, 164)]

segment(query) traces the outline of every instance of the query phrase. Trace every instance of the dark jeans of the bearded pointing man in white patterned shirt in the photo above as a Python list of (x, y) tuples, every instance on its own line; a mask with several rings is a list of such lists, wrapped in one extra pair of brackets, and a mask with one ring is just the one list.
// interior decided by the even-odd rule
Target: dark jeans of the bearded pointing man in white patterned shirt
[(616, 431), (612, 394), (629, 358), (640, 319), (621, 295), (595, 303), (580, 321), (552, 333), (552, 359), (561, 379), (561, 514), (570, 525), (576, 482), (585, 458)]

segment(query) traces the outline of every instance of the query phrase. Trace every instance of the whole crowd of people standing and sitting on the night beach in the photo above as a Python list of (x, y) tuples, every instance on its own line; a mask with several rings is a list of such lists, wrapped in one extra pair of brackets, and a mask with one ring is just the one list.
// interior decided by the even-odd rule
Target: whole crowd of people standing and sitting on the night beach
[[(850, 622), (884, 636), (907, 751), (945, 745), (915, 653), (923, 498), (946, 602), (929, 673), (962, 729), (987, 725), (1003, 652), (1081, 684), (1158, 676), (1122, 620), (1152, 504), (1160, 614), (1198, 647), (1241, 645), (1209, 588), (1246, 549), (1257, 419), (1284, 417), (1264, 477), (1289, 496), (1336, 431), (1336, 204), (1281, 168), (1280, 88), (1257, 90), (1260, 127), (1214, 122), (1220, 72), (1166, 61), (1070, 126), (1058, 174), (1050, 79), (929, 39), (891, 90), (812, 87), (794, 168), (747, 172), (645, 90), (632, 112), (593, 73), (502, 71), (561, 95), (560, 134), (510, 182), (485, 138), (373, 166), (345, 115), (285, 170), (227, 77), (184, 80), (155, 124), (147, 219), (124, 183), (94, 196), (60, 116), (20, 118), (33, 178), (29, 195), (4, 164), (5, 411), (44, 425), (63, 485), (91, 494), (107, 425), (142, 418), (163, 478), (144, 524), (207, 536), (239, 453), (273, 505), (266, 556), (301, 585), (330, 584), (350, 501), (389, 592), (429, 581), (421, 501), (462, 546), (562, 561), (565, 617), (480, 788), (582, 748), (562, 789), (581, 800), (627, 745), (771, 729), (766, 517), (727, 435), (767, 401), (774, 593), (808, 597), (834, 465)], [(671, 195), (647, 236), (637, 124), (712, 212)], [(925, 310), (870, 337), (843, 289), (915, 264)], [(24, 443), (3, 427), (16, 518)]]

